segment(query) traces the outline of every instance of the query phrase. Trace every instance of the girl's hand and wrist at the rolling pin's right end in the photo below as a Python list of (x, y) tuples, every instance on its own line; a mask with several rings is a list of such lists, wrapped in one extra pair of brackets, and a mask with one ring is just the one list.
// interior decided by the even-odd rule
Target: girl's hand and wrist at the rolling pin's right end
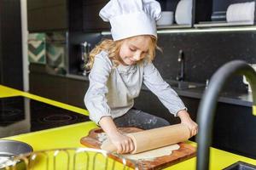
[(189, 113), (187, 111), (178, 111), (177, 116), (179, 116), (179, 118), (181, 119), (181, 123), (189, 127), (190, 137), (195, 136), (195, 134), (198, 133), (198, 125), (190, 118)]

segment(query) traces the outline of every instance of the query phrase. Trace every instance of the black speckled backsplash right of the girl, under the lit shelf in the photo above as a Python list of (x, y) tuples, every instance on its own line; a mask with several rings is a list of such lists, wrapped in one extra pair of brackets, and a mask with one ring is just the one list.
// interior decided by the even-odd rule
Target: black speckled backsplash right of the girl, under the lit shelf
[[(205, 83), (218, 67), (233, 59), (256, 63), (256, 32), (193, 32), (160, 34), (159, 46), (163, 54), (157, 53), (154, 65), (162, 77), (175, 79), (179, 69), (178, 51), (183, 50), (185, 81)], [(242, 77), (232, 78), (226, 88), (246, 90)]]

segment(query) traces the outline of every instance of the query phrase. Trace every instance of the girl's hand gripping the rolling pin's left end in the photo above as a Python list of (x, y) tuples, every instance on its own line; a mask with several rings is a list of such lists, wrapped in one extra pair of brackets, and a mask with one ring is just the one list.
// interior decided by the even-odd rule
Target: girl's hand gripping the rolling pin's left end
[(118, 154), (125, 154), (129, 153), (134, 150), (134, 144), (132, 142), (132, 139), (125, 134), (122, 133), (114, 133), (111, 136), (109, 136), (111, 139), (111, 142), (115, 145), (117, 148)]

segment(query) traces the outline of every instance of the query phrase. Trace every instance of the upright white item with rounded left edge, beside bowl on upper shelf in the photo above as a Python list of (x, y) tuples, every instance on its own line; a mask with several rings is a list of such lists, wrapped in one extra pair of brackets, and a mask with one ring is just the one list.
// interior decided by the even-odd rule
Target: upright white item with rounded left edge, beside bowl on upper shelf
[(177, 3), (175, 20), (178, 25), (192, 24), (192, 0), (181, 0)]

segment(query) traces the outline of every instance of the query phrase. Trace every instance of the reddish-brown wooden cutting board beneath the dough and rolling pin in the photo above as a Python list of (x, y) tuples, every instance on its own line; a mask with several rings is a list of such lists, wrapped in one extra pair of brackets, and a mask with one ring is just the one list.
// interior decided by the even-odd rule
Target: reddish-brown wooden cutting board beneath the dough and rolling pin
[[(119, 130), (123, 133), (136, 133), (139, 131), (143, 131), (137, 127), (119, 127)], [(99, 139), (100, 133), (103, 133), (102, 128), (95, 128), (90, 130), (88, 136), (80, 139), (81, 144), (84, 144), (90, 148), (101, 149), (102, 141)], [(172, 151), (170, 156), (160, 156), (155, 158), (154, 160), (138, 160), (137, 166), (139, 169), (162, 169), (164, 167), (170, 167), (178, 162), (185, 161), (191, 157), (195, 156), (195, 147), (190, 144), (178, 143), (180, 148), (178, 150)], [(114, 160), (122, 162), (118, 156), (110, 155)], [(127, 160), (127, 165), (129, 167), (135, 167), (134, 160)]]

